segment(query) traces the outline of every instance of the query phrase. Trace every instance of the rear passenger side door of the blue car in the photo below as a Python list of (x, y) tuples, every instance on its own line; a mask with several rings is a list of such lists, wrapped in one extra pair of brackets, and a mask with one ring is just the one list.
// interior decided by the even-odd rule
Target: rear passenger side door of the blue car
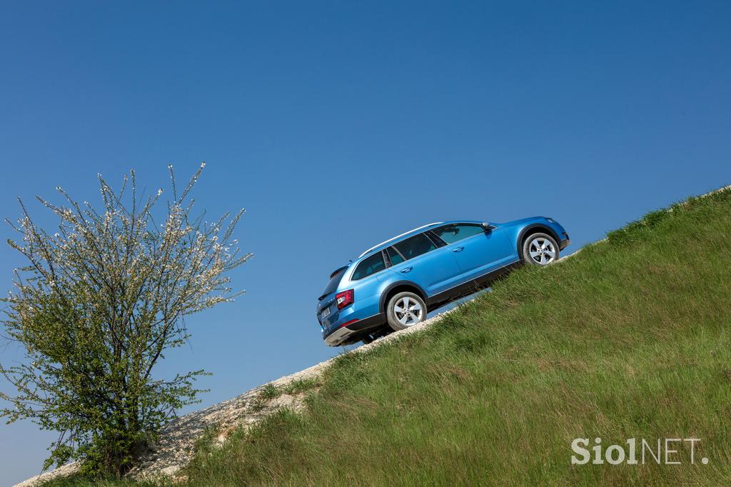
[(430, 297), (455, 285), (462, 273), (454, 253), (446, 247), (439, 248), (425, 233), (394, 243), (387, 254), (390, 270), (419, 284)]

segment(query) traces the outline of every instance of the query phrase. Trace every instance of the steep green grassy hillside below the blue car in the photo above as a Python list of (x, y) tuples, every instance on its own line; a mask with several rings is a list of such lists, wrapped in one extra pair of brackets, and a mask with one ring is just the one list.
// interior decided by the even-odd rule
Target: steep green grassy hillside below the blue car
[[(730, 325), (723, 190), (515, 271), (424, 333), (344, 355), (307, 412), (204, 449), (189, 483), (729, 485)], [(700, 442), (695, 464), (686, 442), (679, 465), (572, 465), (577, 437)]]

